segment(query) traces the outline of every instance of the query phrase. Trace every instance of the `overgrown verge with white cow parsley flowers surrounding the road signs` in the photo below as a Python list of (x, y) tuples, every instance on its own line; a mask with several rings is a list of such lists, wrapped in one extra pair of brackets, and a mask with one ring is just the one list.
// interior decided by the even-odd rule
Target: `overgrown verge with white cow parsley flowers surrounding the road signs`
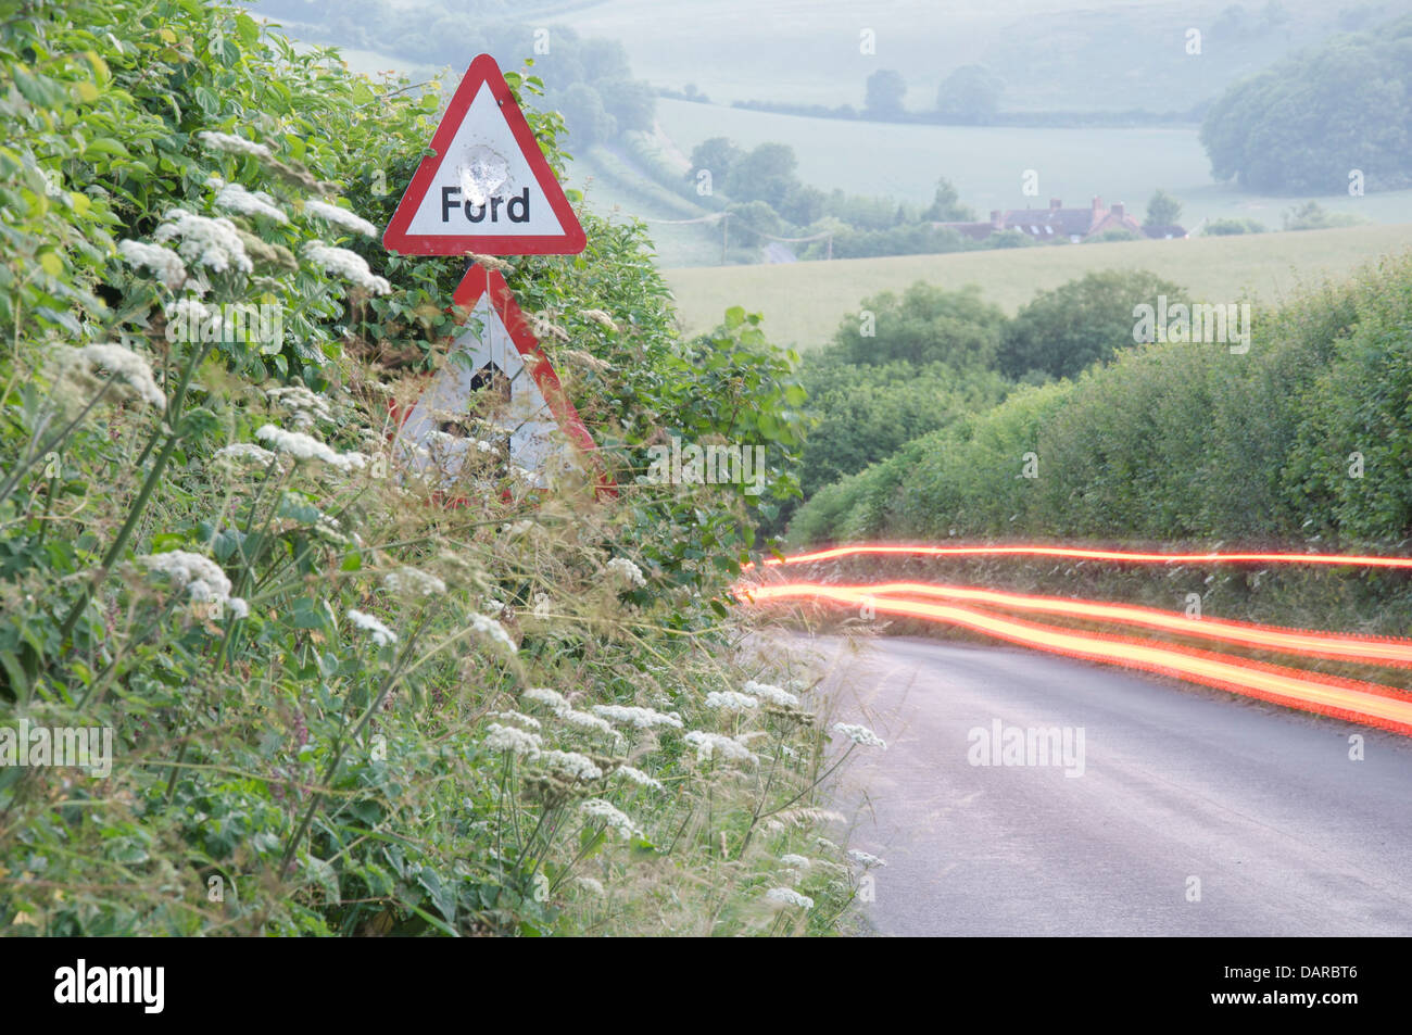
[[(819, 786), (868, 737), (723, 603), (796, 493), (758, 319), (681, 340), (641, 229), (580, 212), (503, 265), (618, 494), (520, 469), (491, 393), (414, 446), (463, 265), (371, 237), (435, 86), (206, 0), (25, 4), (0, 80), (0, 925), (833, 931), (866, 863)], [(767, 445), (765, 490), (645, 483), (672, 435)], [(35, 727), (110, 771), (21, 764)]]

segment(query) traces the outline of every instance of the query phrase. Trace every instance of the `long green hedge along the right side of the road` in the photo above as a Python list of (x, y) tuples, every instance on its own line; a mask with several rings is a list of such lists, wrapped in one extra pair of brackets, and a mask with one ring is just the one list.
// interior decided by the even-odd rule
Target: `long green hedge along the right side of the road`
[[(1120, 350), (819, 491), (791, 534), (1405, 548), (1412, 257), (1279, 308), (1252, 346)], [(1032, 463), (1031, 463), (1032, 462)], [(1396, 592), (1398, 587), (1392, 587)]]

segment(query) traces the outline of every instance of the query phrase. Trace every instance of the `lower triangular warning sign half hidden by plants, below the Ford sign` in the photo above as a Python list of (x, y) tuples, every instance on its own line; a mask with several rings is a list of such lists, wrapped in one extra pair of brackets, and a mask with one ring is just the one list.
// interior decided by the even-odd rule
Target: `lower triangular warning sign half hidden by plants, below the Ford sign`
[[(453, 311), (473, 326), (452, 345), (446, 363), (402, 421), (400, 439), (404, 448), (415, 448), (415, 466), (439, 466), (456, 474), (467, 452), (494, 449), (498, 443), (487, 441), (491, 438), (508, 439), (510, 460), (537, 483), (566, 466), (586, 466), (600, 493), (616, 494), (593, 436), (531, 333), (505, 278), (472, 265), (452, 302)], [(455, 426), (459, 417), (469, 415), (473, 394), (483, 388), (503, 394), (497, 429)], [(587, 465), (580, 463), (585, 459)]]

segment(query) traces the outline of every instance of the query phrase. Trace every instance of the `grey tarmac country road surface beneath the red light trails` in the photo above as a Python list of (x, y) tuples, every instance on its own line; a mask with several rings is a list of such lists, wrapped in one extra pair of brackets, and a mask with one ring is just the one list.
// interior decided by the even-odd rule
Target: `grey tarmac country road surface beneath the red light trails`
[[(888, 741), (839, 796), (850, 846), (888, 863), (877, 933), (1412, 935), (1405, 737), (1008, 648), (782, 645), (827, 659), (834, 717)], [(973, 764), (1051, 727), (1073, 772), (1082, 731), (1082, 775)]]

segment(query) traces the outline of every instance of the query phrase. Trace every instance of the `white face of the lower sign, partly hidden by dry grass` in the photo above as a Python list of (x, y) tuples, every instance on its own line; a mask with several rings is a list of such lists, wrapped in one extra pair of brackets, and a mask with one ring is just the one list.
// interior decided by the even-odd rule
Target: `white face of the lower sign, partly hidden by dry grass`
[[(542, 486), (545, 474), (575, 466), (572, 448), (489, 294), (476, 302), (470, 321), (479, 321), (481, 329), (467, 328), (456, 339), (446, 363), (402, 424), (404, 448), (418, 446), (411, 450), (418, 470), (456, 477), (467, 453), (501, 455), (508, 439), (511, 463), (524, 467), (532, 484)], [(498, 393), (490, 408), (493, 428), (463, 422), (479, 391)]]

